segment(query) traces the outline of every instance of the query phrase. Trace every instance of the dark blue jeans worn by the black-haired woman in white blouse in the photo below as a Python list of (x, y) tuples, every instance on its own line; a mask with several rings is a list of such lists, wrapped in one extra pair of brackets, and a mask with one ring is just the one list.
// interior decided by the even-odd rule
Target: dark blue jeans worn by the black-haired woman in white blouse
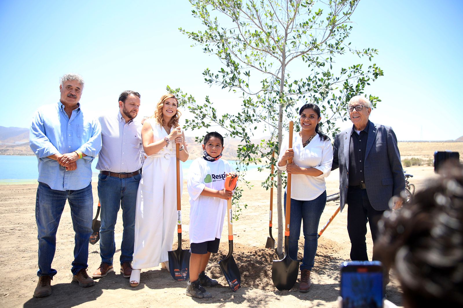
[[(300, 263), (301, 270), (312, 270), (318, 246), (318, 226), (321, 213), (326, 205), (326, 191), (313, 200), (294, 200), (291, 198), (291, 217), (289, 219), (289, 257), (297, 260), (300, 223), (304, 233), (304, 257)], [(286, 215), (286, 192), (284, 197)]]

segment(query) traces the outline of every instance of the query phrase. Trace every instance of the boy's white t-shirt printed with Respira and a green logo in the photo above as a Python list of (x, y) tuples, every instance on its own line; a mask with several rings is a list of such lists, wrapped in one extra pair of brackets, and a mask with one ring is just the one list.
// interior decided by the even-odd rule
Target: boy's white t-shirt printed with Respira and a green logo
[(201, 196), (204, 187), (222, 190), (225, 174), (231, 172), (228, 161), (207, 161), (202, 157), (189, 168), (188, 194), (190, 195), (190, 244), (220, 238), (227, 212), (227, 200)]

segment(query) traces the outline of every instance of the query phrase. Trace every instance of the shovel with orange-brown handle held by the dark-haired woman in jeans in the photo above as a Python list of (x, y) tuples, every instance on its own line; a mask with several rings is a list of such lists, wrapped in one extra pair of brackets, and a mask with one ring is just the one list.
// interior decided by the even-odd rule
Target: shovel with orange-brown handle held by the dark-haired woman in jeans
[[(289, 122), (289, 146), (293, 147), (293, 121)], [(292, 159), (288, 163), (292, 163)], [(286, 190), (286, 218), (285, 218), (285, 254), (281, 260), (273, 260), (272, 264), (272, 281), (278, 290), (291, 290), (296, 283), (299, 274), (299, 260), (293, 260), (289, 257), (289, 219), (291, 217), (291, 174), (288, 173), (288, 184)]]

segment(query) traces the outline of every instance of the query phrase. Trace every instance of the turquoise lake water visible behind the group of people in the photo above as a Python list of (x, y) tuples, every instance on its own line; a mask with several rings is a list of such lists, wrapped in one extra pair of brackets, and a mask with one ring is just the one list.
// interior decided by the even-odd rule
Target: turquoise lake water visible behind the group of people
[[(95, 168), (98, 159), (92, 162), (93, 180), (98, 180), (98, 173)], [(188, 174), (188, 169), (193, 160), (180, 162), (183, 172)], [(233, 167), (236, 167), (234, 161), (229, 161)], [(0, 155), (0, 184), (26, 184), (37, 183), (38, 169), (37, 157), (25, 155)], [(249, 166), (249, 170), (257, 169), (257, 166)]]

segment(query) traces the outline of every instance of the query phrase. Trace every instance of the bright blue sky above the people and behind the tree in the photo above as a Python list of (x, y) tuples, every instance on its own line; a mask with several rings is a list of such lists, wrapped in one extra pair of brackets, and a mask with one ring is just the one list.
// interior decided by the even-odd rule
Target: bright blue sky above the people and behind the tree
[[(190, 11), (187, 0), (0, 1), (0, 125), (28, 127), (38, 106), (59, 100), (67, 72), (84, 77), (81, 104), (95, 115), (117, 112), (126, 89), (141, 93), (140, 115), (150, 115), (166, 85), (209, 95), (222, 112), (239, 106), (238, 95), (203, 83), (203, 69), (219, 62), (178, 31), (200, 29)], [(370, 119), (399, 140), (463, 136), (463, 1), (364, 0), (351, 19), (353, 46), (379, 49), (384, 70), (366, 90), (382, 99)]]

